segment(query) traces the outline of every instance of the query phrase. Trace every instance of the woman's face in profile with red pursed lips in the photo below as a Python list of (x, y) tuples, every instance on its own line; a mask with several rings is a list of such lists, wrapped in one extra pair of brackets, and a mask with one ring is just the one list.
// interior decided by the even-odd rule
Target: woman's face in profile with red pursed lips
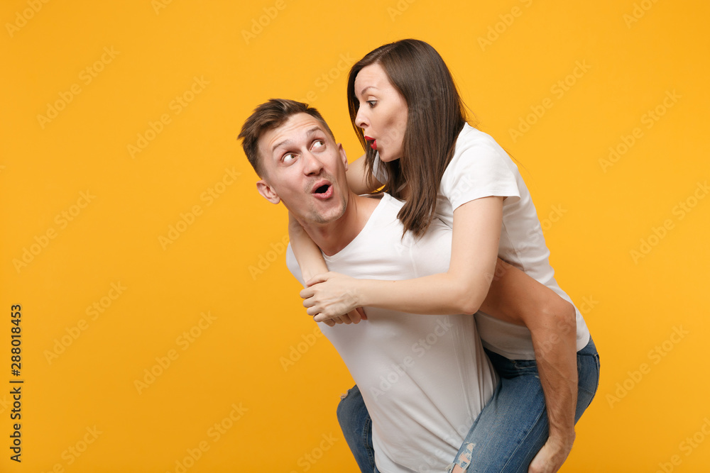
[(355, 124), (362, 128), (367, 144), (383, 162), (398, 160), (404, 153), (407, 102), (381, 65), (371, 64), (358, 72), (355, 96), (360, 103)]

